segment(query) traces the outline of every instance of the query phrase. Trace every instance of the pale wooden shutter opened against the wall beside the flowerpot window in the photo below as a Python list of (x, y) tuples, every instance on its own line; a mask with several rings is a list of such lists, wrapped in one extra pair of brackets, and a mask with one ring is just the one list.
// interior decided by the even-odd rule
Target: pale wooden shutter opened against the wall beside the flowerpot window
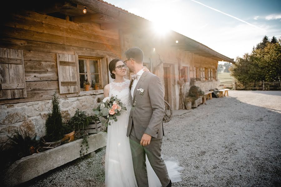
[(60, 93), (77, 93), (75, 55), (57, 53), (57, 72)]

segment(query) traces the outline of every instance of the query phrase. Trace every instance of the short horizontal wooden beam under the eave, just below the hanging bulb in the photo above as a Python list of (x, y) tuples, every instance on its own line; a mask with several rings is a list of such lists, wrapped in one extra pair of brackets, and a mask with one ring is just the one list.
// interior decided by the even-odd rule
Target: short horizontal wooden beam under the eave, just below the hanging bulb
[(110, 16), (106, 16), (103, 14), (85, 14), (81, 16), (72, 17), (73, 22), (77, 23), (87, 23), (87, 22), (95, 22), (95, 23), (112, 23), (112, 22), (120, 22), (118, 19), (115, 19)]

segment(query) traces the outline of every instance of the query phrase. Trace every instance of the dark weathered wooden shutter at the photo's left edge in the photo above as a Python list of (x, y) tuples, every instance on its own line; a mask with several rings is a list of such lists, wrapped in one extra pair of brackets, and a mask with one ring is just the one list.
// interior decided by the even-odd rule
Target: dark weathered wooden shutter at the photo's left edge
[(0, 48), (0, 99), (25, 97), (22, 50)]

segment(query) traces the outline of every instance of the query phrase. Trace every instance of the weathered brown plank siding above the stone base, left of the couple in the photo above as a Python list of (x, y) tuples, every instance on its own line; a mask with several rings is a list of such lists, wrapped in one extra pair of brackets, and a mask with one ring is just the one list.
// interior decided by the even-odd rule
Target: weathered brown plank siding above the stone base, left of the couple
[[(31, 11), (7, 17), (11, 21), (1, 23), (0, 47), (23, 50), (27, 97), (0, 100), (0, 104), (51, 99), (55, 91), (59, 93), (58, 53), (105, 57), (106, 66), (107, 60), (120, 56), (118, 30), (105, 31), (99, 24), (80, 24)], [(74, 96), (77, 93), (59, 97)]]

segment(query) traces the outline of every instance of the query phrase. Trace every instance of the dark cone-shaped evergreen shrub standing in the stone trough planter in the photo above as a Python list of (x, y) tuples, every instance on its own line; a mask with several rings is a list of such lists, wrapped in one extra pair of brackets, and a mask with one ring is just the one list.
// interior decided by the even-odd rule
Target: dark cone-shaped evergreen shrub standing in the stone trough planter
[(50, 141), (57, 141), (63, 138), (64, 126), (62, 123), (62, 114), (59, 106), (57, 92), (54, 93), (52, 98), (52, 113), (48, 113), (45, 128), (46, 135)]

